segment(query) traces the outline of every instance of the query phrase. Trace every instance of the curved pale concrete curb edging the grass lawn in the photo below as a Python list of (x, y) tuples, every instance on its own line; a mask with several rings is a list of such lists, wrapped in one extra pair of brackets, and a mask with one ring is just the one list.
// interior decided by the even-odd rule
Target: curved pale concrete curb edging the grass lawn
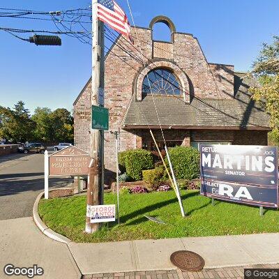
[(66, 236), (63, 236), (61, 234), (58, 234), (57, 232), (54, 232), (52, 229), (47, 227), (45, 223), (43, 223), (43, 220), (40, 218), (38, 213), (38, 204), (40, 202), (40, 199), (43, 197), (44, 192), (40, 193), (38, 197), (36, 198), (36, 201), (33, 206), (33, 220), (36, 223), (37, 227), (40, 229), (43, 234), (50, 237), (50, 239), (53, 239), (55, 241), (59, 241), (61, 243), (66, 243), (67, 245), (72, 242), (70, 239), (68, 239)]

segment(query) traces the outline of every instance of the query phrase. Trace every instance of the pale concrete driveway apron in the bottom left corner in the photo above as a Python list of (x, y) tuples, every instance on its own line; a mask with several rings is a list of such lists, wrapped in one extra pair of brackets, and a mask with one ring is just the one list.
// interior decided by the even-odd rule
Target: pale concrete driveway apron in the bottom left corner
[(33, 223), (31, 217), (0, 221), (0, 278), (6, 276), (3, 267), (31, 267), (38, 264), (44, 274), (38, 278), (80, 279), (81, 273), (66, 244), (49, 239)]

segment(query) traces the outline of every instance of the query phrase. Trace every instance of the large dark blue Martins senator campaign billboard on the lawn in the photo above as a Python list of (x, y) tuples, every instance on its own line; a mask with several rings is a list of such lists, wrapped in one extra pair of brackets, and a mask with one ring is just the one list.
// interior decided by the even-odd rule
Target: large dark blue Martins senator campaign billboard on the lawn
[(201, 195), (278, 207), (278, 149), (202, 144)]

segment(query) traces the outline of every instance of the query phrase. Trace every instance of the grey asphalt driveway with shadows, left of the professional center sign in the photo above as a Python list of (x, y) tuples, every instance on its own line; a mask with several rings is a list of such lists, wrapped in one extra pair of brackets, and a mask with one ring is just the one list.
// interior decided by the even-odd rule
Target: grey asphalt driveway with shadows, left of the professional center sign
[[(71, 179), (50, 178), (50, 188)], [(32, 216), (33, 203), (44, 189), (44, 155), (13, 154), (0, 157), (0, 220)]]

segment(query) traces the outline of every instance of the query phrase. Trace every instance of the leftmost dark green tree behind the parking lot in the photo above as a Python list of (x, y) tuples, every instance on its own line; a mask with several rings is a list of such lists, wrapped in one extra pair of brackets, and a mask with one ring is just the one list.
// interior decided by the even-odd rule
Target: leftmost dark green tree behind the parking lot
[(34, 123), (30, 118), (29, 110), (19, 101), (13, 110), (9, 107), (0, 107), (0, 136), (13, 142), (26, 142), (32, 137)]

